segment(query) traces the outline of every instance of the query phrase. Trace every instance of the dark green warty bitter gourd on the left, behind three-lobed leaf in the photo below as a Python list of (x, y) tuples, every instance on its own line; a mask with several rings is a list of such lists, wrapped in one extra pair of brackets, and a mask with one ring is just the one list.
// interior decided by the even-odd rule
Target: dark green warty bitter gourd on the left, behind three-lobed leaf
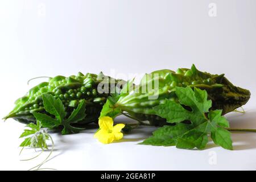
[[(98, 92), (98, 84), (104, 81), (108, 82), (109, 90), (111, 86), (116, 86), (118, 82), (122, 82), (122, 80), (110, 79), (110, 77), (106, 77), (102, 73), (99, 75), (92, 73), (83, 75), (79, 72), (77, 76), (49, 78), (48, 82), (40, 83), (30, 89), (26, 96), (16, 100), (14, 109), (4, 119), (14, 118), (22, 123), (35, 122), (32, 113), (46, 113), (42, 95), (51, 94), (55, 98), (60, 98), (65, 106), (67, 115), (70, 115), (74, 108), (79, 105), (80, 100), (85, 100), (86, 117), (79, 123), (96, 122), (102, 105), (105, 104), (106, 98), (109, 96), (109, 92)], [(111, 81), (114, 83), (111, 83)]]

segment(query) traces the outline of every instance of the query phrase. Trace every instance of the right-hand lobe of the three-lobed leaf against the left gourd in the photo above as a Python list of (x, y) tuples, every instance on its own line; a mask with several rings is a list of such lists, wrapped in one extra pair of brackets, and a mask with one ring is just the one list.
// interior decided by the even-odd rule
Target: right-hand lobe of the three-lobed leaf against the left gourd
[(77, 123), (84, 119), (86, 116), (85, 114), (85, 100), (82, 100), (76, 109), (73, 110), (71, 115), (68, 117), (68, 123)]

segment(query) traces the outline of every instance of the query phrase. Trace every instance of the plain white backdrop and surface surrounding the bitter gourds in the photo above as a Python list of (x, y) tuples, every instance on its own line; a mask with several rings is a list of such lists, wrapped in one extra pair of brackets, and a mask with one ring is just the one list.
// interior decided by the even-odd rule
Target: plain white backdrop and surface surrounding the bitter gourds
[[(215, 3), (216, 15), (209, 16)], [(191, 67), (225, 73), (251, 90), (246, 114), (227, 115), (232, 127), (256, 128), (256, 1), (0, 1), (0, 117), (16, 98), (43, 80), (37, 76), (98, 73), (127, 78), (156, 69)], [(121, 118), (121, 121), (127, 119)], [(24, 125), (0, 123), (0, 169), (29, 169), (43, 160), (20, 162)], [(44, 167), (56, 169), (256, 169), (256, 134), (233, 134), (234, 151), (137, 145), (154, 128), (134, 130), (103, 145), (94, 130), (53, 135), (56, 150)], [(30, 153), (30, 154), (26, 154)]]

